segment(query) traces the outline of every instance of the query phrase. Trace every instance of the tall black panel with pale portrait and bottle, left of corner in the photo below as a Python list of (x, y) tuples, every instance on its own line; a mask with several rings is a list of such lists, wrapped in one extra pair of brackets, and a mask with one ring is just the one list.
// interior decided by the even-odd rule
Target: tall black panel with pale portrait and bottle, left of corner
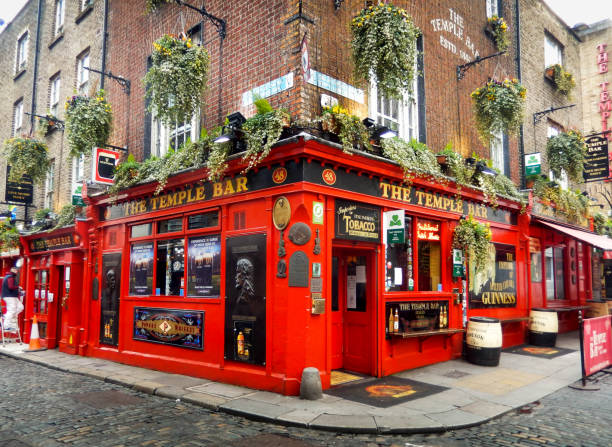
[(266, 362), (266, 235), (227, 239), (225, 357)]

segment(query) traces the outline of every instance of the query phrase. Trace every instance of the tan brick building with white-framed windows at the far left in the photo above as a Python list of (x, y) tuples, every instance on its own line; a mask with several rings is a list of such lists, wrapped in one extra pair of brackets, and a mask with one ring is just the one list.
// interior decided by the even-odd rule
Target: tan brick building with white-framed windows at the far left
[[(51, 114), (64, 119), (64, 102), (75, 92), (99, 88), (100, 77), (86, 67), (100, 69), (104, 2), (100, 0), (29, 0), (0, 34), (5, 55), (0, 76), (0, 140), (35, 135), (39, 119)], [(34, 101), (32, 100), (34, 98)], [(34, 185), (33, 211), (58, 212), (71, 203), (73, 191), (90, 172), (90, 160), (70, 157), (63, 130), (41, 138), (49, 147), (52, 167), (43, 184)], [(4, 201), (6, 163), (0, 162), (0, 197)], [(0, 209), (6, 209), (2, 205)], [(19, 206), (18, 218), (26, 217)]]

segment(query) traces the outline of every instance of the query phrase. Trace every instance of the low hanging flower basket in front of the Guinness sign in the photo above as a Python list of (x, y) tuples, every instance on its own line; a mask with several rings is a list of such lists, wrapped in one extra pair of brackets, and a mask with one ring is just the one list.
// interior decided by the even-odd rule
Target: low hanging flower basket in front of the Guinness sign
[(476, 270), (483, 270), (487, 265), (491, 228), (488, 223), (482, 224), (471, 215), (461, 219), (453, 234), (453, 247), (467, 253), (468, 260)]

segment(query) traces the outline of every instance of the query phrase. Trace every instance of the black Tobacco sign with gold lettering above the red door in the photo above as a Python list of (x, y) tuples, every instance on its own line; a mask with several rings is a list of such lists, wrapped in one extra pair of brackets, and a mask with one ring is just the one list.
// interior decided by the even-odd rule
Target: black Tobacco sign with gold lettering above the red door
[(380, 240), (380, 209), (347, 200), (336, 200), (336, 237), (357, 241)]

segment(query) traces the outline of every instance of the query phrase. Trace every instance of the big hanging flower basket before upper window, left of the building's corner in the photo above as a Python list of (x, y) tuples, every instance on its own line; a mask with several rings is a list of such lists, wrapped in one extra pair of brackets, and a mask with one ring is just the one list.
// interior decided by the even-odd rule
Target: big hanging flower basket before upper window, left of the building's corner
[(191, 39), (164, 35), (153, 43), (152, 65), (144, 77), (148, 111), (165, 124), (190, 121), (208, 81), (208, 52)]

